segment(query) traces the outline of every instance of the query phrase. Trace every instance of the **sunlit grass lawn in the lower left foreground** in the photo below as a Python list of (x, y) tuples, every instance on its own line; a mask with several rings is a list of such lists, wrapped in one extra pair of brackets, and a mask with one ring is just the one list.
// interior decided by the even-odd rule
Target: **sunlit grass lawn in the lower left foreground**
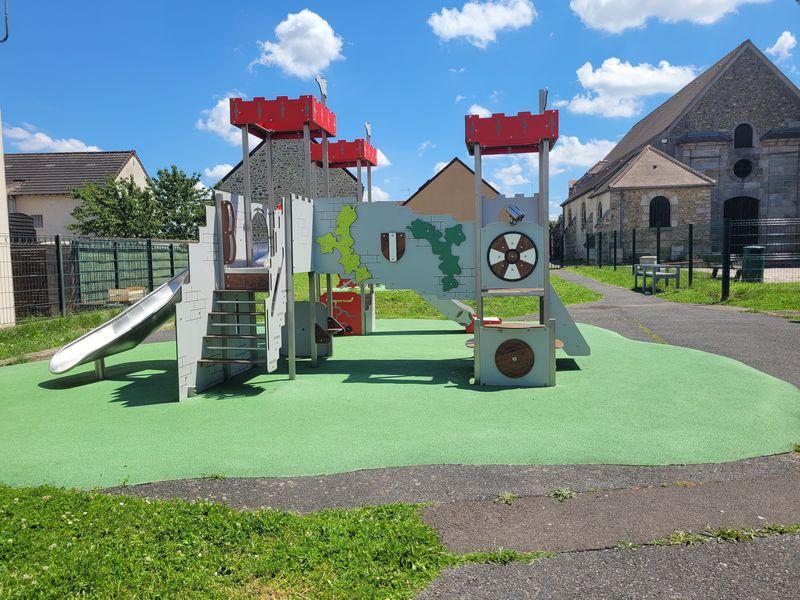
[(395, 504), (299, 515), (0, 486), (0, 597), (410, 598), (454, 555)]

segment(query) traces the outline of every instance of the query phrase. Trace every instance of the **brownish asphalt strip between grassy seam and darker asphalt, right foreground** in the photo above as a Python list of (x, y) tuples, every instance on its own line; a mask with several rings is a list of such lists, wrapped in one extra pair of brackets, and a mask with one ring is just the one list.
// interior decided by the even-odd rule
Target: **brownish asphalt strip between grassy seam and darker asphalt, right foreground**
[(511, 504), (450, 502), (423, 515), (444, 545), (462, 554), (598, 550), (621, 541), (646, 544), (678, 530), (800, 523), (800, 474), (598, 490), (563, 501), (535, 496)]

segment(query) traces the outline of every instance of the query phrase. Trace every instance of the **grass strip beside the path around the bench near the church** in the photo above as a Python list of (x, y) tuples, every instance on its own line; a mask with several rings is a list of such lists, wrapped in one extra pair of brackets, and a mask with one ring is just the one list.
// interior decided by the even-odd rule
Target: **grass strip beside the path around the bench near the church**
[[(591, 277), (603, 283), (633, 289), (633, 274), (629, 265), (599, 269), (591, 266), (569, 267), (570, 271)], [(688, 287), (687, 271), (681, 273), (681, 288), (671, 285), (659, 292), (659, 298), (672, 302), (691, 304), (724, 304), (741, 306), (755, 311), (800, 311), (800, 283), (741, 283), (731, 281), (731, 295), (720, 303), (721, 282), (709, 273), (695, 272), (692, 287)], [(663, 284), (659, 284), (663, 286)]]

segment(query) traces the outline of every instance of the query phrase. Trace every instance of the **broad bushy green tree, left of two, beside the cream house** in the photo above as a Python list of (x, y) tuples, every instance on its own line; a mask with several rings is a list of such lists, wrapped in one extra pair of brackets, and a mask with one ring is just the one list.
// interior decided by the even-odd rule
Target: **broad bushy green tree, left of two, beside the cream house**
[(148, 238), (161, 233), (163, 211), (151, 189), (139, 187), (133, 177), (89, 183), (72, 190), (72, 196), (80, 203), (69, 228), (80, 235)]

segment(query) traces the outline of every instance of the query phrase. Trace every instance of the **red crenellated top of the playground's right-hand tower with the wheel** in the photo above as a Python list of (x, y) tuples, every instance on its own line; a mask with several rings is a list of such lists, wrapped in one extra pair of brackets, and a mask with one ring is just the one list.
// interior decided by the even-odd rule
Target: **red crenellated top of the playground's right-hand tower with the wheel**
[(502, 113), (481, 118), (478, 115), (465, 117), (465, 141), (470, 154), (480, 144), (481, 154), (520, 154), (538, 152), (542, 140), (550, 140), (551, 146), (558, 139), (558, 111), (546, 110), (533, 115), (521, 112), (506, 116)]

